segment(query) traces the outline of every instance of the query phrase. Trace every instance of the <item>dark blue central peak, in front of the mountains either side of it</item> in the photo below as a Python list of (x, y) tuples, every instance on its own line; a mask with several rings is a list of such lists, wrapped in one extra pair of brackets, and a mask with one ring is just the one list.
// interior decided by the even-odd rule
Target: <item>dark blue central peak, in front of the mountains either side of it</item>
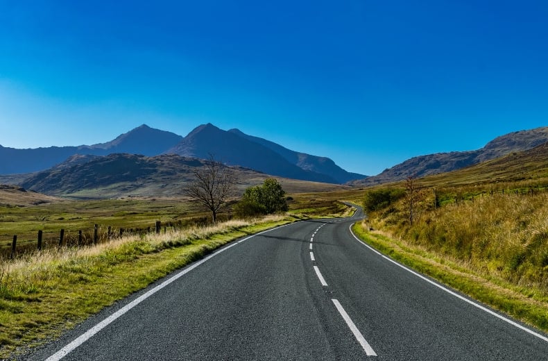
[(223, 131), (212, 124), (198, 126), (166, 153), (203, 159), (213, 156), (227, 165), (239, 165), (272, 176), (339, 183), (330, 174), (302, 169), (268, 147), (237, 133)]

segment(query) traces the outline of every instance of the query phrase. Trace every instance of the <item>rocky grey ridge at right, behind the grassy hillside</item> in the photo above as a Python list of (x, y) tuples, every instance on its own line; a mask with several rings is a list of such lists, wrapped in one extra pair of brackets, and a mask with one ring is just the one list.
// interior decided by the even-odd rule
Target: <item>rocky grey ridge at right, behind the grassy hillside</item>
[(408, 176), (423, 177), (445, 173), (476, 165), (486, 160), (493, 160), (509, 153), (526, 151), (548, 142), (548, 127), (540, 127), (528, 131), (508, 133), (488, 142), (476, 151), (454, 151), (450, 153), (435, 153), (427, 156), (413, 157), (399, 165), (384, 170), (377, 176), (371, 176), (353, 185), (375, 185), (401, 181)]

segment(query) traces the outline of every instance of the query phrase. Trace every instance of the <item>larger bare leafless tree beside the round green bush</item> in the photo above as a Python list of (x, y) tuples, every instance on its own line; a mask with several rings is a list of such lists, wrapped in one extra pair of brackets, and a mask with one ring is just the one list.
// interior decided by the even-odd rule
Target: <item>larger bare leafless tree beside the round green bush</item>
[(183, 193), (211, 211), (215, 223), (217, 213), (226, 204), (236, 184), (234, 170), (209, 155), (205, 165), (196, 167), (193, 173), (195, 179)]

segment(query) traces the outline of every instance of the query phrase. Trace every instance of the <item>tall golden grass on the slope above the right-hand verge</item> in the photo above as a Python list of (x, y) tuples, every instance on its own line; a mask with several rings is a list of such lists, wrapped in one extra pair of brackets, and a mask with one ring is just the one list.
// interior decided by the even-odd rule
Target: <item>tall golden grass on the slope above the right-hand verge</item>
[(440, 208), (425, 196), (412, 226), (402, 203), (374, 213), (370, 224), (481, 274), (548, 294), (547, 192), (476, 192), (473, 201), (461, 197)]

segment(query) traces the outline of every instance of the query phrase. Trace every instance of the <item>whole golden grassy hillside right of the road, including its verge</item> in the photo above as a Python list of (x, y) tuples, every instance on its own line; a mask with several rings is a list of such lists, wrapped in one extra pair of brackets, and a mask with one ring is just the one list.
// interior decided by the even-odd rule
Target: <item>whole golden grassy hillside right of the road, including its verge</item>
[(409, 193), (409, 179), (368, 188), (368, 218), (354, 231), (405, 265), (548, 330), (548, 144), (413, 179)]

